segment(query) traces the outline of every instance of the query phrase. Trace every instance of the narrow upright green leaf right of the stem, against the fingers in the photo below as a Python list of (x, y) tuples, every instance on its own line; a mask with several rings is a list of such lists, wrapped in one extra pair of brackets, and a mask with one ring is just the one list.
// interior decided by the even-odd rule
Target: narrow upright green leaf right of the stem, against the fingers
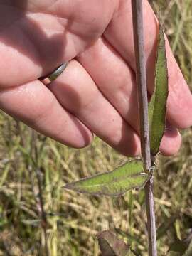
[(159, 28), (159, 45), (156, 55), (154, 93), (149, 102), (149, 129), (151, 154), (159, 151), (164, 135), (166, 100), (168, 97), (168, 70), (166, 62), (165, 38), (163, 29)]

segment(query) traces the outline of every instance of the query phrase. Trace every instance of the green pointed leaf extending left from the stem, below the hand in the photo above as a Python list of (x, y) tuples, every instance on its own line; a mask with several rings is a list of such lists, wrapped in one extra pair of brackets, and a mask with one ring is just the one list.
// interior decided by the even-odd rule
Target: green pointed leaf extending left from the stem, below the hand
[(67, 184), (64, 188), (92, 195), (122, 196), (132, 188), (145, 185), (149, 176), (144, 173), (141, 159), (132, 160), (113, 171)]

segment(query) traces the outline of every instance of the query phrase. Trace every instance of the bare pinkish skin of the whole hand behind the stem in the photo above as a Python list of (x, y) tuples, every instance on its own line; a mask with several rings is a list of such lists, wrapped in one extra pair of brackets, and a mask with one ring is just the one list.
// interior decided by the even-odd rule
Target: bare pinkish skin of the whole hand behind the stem
[[(58, 142), (81, 148), (93, 134), (127, 156), (140, 153), (130, 0), (0, 0), (0, 108)], [(158, 25), (144, 1), (149, 95)], [(192, 96), (166, 41), (167, 127), (175, 154), (192, 124)], [(50, 85), (38, 80), (71, 60)]]

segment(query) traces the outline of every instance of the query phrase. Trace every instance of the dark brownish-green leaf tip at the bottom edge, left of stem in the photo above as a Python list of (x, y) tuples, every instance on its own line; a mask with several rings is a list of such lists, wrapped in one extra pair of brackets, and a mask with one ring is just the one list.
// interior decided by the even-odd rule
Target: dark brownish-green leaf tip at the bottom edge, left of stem
[(110, 230), (105, 230), (97, 235), (102, 256), (127, 256), (129, 245), (117, 238)]

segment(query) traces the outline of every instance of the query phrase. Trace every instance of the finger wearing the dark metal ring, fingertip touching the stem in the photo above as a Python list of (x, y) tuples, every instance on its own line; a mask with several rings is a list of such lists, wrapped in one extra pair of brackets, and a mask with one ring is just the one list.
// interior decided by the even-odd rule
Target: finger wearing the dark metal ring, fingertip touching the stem
[(49, 88), (63, 107), (114, 149), (129, 156), (140, 153), (137, 133), (103, 97), (78, 61), (71, 61)]

